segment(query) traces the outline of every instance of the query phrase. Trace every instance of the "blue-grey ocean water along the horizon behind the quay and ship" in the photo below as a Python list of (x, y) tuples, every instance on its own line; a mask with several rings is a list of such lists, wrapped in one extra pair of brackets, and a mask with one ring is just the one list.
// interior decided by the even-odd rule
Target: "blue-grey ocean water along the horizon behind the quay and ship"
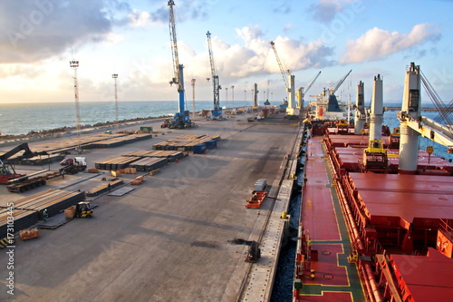
[[(243, 104), (244, 101), (236, 101)], [(230, 105), (232, 103), (230, 102)], [(221, 102), (227, 106), (228, 102)], [(386, 104), (392, 105), (392, 104)], [(195, 109), (199, 112), (203, 109), (210, 110), (212, 101), (196, 101)], [(186, 103), (186, 110), (192, 111), (192, 102)], [(136, 118), (159, 117), (178, 112), (177, 101), (149, 101), (149, 102), (118, 102), (118, 119), (131, 120)], [(98, 122), (115, 121), (114, 102), (81, 102), (81, 125), (93, 125)], [(400, 122), (396, 117), (397, 112), (384, 112), (384, 124), (390, 127), (398, 127)], [(438, 112), (422, 112), (424, 116), (434, 119)], [(40, 103), (0, 103), (0, 132), (2, 134), (19, 135), (28, 132), (39, 132), (61, 127), (76, 126), (74, 102), (40, 102)], [(433, 145), (434, 155), (453, 161), (453, 154), (448, 154), (447, 148), (421, 138), (419, 149)]]

